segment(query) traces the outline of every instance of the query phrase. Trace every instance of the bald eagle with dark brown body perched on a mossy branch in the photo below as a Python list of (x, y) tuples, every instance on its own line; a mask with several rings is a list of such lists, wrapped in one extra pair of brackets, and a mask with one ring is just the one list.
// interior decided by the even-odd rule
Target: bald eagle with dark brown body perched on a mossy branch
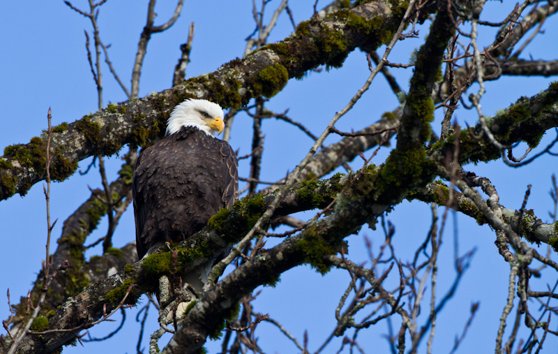
[[(132, 193), (140, 259), (165, 242), (187, 239), (239, 198), (236, 155), (216, 138), (223, 128), (220, 105), (186, 100), (172, 110), (165, 138), (137, 158)], [(211, 262), (204, 267), (195, 276), (202, 284)]]

